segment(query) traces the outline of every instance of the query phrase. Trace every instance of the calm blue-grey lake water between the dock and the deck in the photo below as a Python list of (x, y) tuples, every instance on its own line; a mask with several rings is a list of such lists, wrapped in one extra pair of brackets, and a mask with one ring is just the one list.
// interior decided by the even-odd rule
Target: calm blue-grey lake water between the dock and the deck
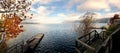
[[(106, 23), (98, 23), (96, 26), (104, 26)], [(35, 53), (74, 53), (75, 39), (74, 24), (24, 24), (24, 32), (8, 41), (8, 45), (14, 45), (22, 40), (26, 41), (38, 33), (45, 36), (35, 49)]]

